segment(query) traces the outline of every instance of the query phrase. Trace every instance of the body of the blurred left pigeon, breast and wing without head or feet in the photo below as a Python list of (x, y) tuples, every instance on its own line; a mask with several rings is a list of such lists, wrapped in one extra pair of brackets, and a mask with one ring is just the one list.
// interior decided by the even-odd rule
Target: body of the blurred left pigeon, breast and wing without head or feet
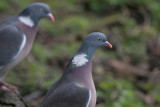
[[(28, 27), (16, 16), (12, 17), (11, 21), (5, 21), (5, 25), (1, 23), (0, 26), (3, 26), (0, 28), (0, 44), (2, 44), (0, 49), (4, 49), (0, 52), (0, 79), (3, 79), (9, 69), (17, 65), (30, 52), (38, 26)], [(2, 34), (6, 32), (7, 35)]]

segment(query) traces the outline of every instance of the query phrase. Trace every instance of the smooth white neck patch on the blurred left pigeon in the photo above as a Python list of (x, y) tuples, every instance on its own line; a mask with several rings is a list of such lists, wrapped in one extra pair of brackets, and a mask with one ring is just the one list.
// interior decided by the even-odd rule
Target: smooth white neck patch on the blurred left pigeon
[(34, 22), (32, 21), (32, 19), (29, 16), (20, 16), (19, 20), (29, 27), (34, 26)]

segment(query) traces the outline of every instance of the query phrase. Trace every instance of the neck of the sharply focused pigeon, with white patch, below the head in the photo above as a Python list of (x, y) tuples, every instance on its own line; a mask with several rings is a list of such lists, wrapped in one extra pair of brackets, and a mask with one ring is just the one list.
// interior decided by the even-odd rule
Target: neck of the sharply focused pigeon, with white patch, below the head
[(92, 56), (95, 50), (96, 50), (95, 47), (91, 47), (83, 43), (80, 49), (78, 50), (78, 52), (76, 53), (76, 55), (70, 61), (68, 67), (77, 68), (77, 67), (85, 66), (92, 59)]

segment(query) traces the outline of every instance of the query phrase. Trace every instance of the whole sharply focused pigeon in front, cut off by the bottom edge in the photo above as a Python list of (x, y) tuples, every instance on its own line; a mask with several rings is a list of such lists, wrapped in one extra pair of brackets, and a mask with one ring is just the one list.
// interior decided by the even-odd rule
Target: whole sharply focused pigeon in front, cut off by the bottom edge
[(62, 77), (50, 88), (40, 107), (95, 107), (92, 56), (96, 48), (105, 45), (111, 47), (104, 34), (91, 33), (70, 60)]

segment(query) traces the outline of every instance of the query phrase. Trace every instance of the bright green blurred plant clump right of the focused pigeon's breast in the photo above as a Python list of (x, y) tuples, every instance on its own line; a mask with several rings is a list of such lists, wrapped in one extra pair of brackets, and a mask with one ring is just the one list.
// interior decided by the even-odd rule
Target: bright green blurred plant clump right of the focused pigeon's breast
[(99, 84), (100, 97), (105, 99), (105, 106), (108, 107), (148, 107), (137, 97), (136, 87), (129, 81), (114, 79), (113, 75), (106, 76), (106, 80)]

